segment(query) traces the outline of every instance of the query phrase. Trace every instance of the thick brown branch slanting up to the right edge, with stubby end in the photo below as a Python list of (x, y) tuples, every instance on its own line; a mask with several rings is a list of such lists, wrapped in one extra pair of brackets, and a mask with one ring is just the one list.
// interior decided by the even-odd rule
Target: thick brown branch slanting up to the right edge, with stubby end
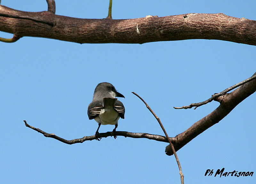
[[(256, 76), (256, 73), (253, 75)], [(204, 118), (197, 121), (186, 131), (176, 135), (175, 150), (179, 150), (185, 146), (189, 141), (194, 139), (200, 133), (204, 132), (206, 129), (210, 128), (212, 125), (219, 123), (225, 116), (230, 113), (241, 101), (246, 99), (252, 93), (256, 91), (256, 79), (251, 80), (237, 88), (235, 91), (224, 94), (223, 96), (217, 97), (220, 102), (220, 106), (216, 108), (213, 112), (205, 116)], [(165, 148), (167, 155), (172, 155), (172, 149), (170, 146)]]

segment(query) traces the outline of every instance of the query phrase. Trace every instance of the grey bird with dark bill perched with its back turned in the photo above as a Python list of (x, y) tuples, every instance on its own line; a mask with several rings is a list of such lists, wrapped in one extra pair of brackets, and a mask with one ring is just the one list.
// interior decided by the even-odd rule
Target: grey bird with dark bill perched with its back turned
[[(115, 125), (113, 132), (116, 132), (119, 118), (124, 119), (124, 105), (115, 97), (124, 98), (124, 95), (117, 92), (112, 84), (100, 83), (96, 86), (92, 103), (89, 104), (87, 111), (89, 119), (94, 119), (99, 124), (95, 133), (96, 135), (100, 134), (99, 129), (101, 124)], [(116, 136), (114, 138), (116, 139)]]

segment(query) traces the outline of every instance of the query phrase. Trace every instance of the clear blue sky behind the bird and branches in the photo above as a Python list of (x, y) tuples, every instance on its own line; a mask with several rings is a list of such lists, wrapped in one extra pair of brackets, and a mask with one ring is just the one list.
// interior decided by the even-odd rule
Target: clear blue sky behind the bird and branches
[[(22, 11), (47, 10), (46, 1), (2, 0)], [(113, 19), (184, 13), (225, 13), (256, 20), (256, 1), (113, 1)], [(108, 1), (56, 0), (56, 14), (105, 18)], [(12, 35), (0, 32), (0, 36)], [(117, 137), (67, 145), (45, 138), (28, 124), (64, 139), (94, 135), (87, 106), (100, 82), (125, 96), (125, 119), (117, 131), (164, 135), (155, 118), (131, 92), (138, 93), (160, 117), (170, 137), (185, 131), (219, 106), (196, 110), (173, 106), (204, 101), (253, 75), (255, 46), (219, 40), (147, 44), (76, 44), (23, 37), (0, 43), (1, 183), (180, 183), (167, 143)], [(97, 72), (96, 72), (97, 71)], [(255, 172), (255, 94), (220, 123), (177, 154), (185, 183), (255, 183), (253, 177), (206, 177), (207, 169)], [(100, 127), (100, 132), (114, 126)]]

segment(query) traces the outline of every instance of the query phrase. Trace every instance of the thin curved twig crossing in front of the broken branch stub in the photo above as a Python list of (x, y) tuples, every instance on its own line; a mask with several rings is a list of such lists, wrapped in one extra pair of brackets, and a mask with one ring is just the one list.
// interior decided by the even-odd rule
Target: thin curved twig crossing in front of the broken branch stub
[(175, 156), (175, 158), (176, 158), (176, 161), (177, 161), (177, 164), (178, 164), (178, 167), (179, 167), (179, 170), (180, 170), (180, 181), (181, 181), (181, 184), (184, 184), (184, 175), (183, 175), (182, 170), (181, 170), (181, 165), (180, 165), (179, 158), (178, 158), (178, 156), (177, 156), (177, 154), (176, 154), (176, 151), (175, 151), (175, 149), (174, 149), (174, 146), (173, 146), (173, 144), (172, 144), (171, 139), (169, 138), (167, 132), (166, 132), (165, 129), (164, 129), (163, 124), (162, 124), (161, 121), (160, 121), (160, 118), (159, 118), (158, 116), (156, 116), (155, 112), (148, 106), (148, 104), (145, 102), (145, 100), (143, 100), (143, 99), (142, 99), (138, 94), (136, 94), (135, 92), (132, 92), (132, 93), (133, 93), (134, 95), (136, 95), (137, 97), (139, 97), (139, 99), (140, 99), (141, 101), (143, 101), (143, 103), (146, 105), (146, 107), (148, 108), (148, 110), (153, 114), (153, 116), (155, 116), (156, 120), (157, 120), (158, 123), (160, 124), (162, 130), (164, 131), (164, 134), (165, 134), (166, 138), (168, 139), (168, 142), (169, 142), (170, 145), (171, 145), (172, 151), (173, 151), (174, 156)]

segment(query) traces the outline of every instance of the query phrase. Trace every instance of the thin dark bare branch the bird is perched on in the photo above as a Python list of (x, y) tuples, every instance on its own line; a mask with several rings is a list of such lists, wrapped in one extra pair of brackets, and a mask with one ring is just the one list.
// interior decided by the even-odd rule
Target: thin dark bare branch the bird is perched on
[[(50, 137), (56, 140), (59, 140), (63, 143), (66, 144), (75, 144), (75, 143), (82, 143), (86, 140), (94, 140), (97, 139), (98, 137), (96, 135), (92, 135), (92, 136), (84, 136), (83, 138), (80, 139), (73, 139), (73, 140), (66, 140), (63, 139), (57, 135), (55, 135), (54, 133), (47, 133), (44, 132), (42, 130), (40, 130), (39, 128), (35, 128), (33, 126), (30, 126), (26, 120), (24, 120), (25, 125), (28, 128), (31, 128), (39, 133), (42, 133), (45, 137)], [(153, 135), (153, 134), (148, 134), (148, 133), (132, 133), (132, 132), (123, 132), (123, 131), (116, 131), (115, 133), (113, 132), (105, 132), (105, 133), (100, 133), (100, 137), (109, 137), (109, 136), (124, 136), (124, 137), (131, 137), (131, 138), (146, 138), (146, 139), (150, 139), (150, 140), (156, 140), (156, 141), (160, 141), (160, 142), (168, 142), (168, 140), (166, 139), (166, 137), (161, 136), (161, 135)], [(174, 138), (170, 138), (172, 140), (172, 142), (175, 142)]]

